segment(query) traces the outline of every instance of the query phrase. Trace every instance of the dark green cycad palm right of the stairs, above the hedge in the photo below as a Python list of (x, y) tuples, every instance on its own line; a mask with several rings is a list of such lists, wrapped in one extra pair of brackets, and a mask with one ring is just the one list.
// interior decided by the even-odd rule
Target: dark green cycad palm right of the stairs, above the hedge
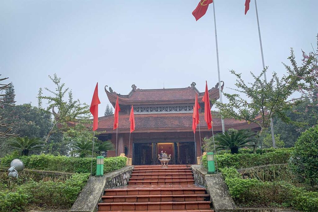
[(216, 150), (231, 150), (232, 154), (239, 153), (239, 148), (255, 145), (255, 133), (249, 130), (232, 130), (215, 136)]

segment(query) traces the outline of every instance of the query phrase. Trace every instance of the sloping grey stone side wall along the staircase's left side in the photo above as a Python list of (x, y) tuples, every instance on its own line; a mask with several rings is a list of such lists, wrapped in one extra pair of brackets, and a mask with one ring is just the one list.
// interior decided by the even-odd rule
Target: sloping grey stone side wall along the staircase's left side
[(93, 212), (104, 189), (127, 185), (133, 169), (134, 166), (126, 166), (101, 177), (90, 176), (70, 211)]

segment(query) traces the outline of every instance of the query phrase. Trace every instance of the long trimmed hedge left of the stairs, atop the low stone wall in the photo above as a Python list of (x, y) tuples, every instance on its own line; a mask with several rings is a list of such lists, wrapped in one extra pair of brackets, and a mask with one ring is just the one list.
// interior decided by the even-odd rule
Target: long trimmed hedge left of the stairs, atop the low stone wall
[[(1, 158), (0, 165), (2, 167), (10, 167), (13, 159), (18, 158), (23, 161), (25, 168), (59, 171), (59, 172), (73, 172), (73, 173), (90, 173), (91, 172), (91, 158), (54, 156), (51, 154), (40, 154), (31, 156), (18, 156), (16, 154), (6, 155)], [(116, 157), (104, 159), (104, 173), (115, 170)], [(117, 157), (117, 169), (126, 166), (126, 157)], [(93, 174), (96, 173), (96, 158), (93, 158)]]

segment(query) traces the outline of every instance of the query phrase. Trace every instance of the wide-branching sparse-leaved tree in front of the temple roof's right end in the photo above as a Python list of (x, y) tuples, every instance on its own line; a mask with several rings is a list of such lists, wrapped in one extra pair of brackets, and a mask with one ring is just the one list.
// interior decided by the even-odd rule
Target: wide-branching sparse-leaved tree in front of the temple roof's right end
[[(312, 64), (312, 57), (308, 58), (300, 67), (295, 61), (294, 51), (291, 49), (289, 60), (292, 67), (285, 65), (287, 75), (279, 78), (276, 72), (273, 72), (272, 78), (267, 82), (263, 79), (266, 69), (258, 76), (251, 72), (253, 77), (252, 83), (246, 83), (240, 73), (231, 71), (237, 78), (236, 88), (232, 89), (236, 94), (224, 93), (229, 103), (222, 104), (215, 102), (220, 110), (221, 115), (237, 120), (246, 120), (249, 123), (257, 124), (261, 130), (260, 134), (266, 133), (270, 125), (271, 118), (280, 118), (284, 122), (290, 119), (286, 115), (286, 111), (294, 105), (301, 103), (301, 98), (290, 98), (292, 94), (299, 91), (299, 87), (303, 86), (303, 76), (309, 72)], [(313, 80), (313, 79), (311, 79)]]

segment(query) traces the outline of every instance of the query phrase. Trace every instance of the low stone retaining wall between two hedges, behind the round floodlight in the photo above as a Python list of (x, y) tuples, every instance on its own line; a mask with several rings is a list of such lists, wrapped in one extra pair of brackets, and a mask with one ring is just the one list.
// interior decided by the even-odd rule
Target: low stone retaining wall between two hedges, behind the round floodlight
[[(3, 175), (8, 176), (8, 169), (6, 167), (0, 167), (0, 179)], [(33, 170), (33, 169), (24, 169), (23, 171), (19, 172), (20, 178), (30, 178), (33, 180), (61, 180), (66, 181), (67, 179), (71, 178), (74, 173), (66, 173), (66, 172), (54, 172), (54, 171), (40, 171), (40, 170)]]

